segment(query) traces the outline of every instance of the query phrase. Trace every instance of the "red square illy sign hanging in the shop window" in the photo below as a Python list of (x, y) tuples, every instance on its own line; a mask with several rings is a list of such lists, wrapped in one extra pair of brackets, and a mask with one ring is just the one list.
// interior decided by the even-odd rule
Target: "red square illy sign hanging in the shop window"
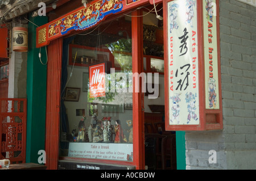
[(89, 66), (90, 98), (105, 96), (105, 63)]

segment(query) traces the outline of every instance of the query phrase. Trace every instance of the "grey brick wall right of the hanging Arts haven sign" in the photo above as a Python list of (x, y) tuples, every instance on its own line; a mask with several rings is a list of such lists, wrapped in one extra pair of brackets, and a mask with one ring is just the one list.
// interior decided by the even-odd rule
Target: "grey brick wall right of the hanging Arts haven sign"
[[(220, 1), (223, 131), (186, 132), (187, 169), (256, 167), (256, 7)], [(209, 163), (209, 150), (217, 162)]]

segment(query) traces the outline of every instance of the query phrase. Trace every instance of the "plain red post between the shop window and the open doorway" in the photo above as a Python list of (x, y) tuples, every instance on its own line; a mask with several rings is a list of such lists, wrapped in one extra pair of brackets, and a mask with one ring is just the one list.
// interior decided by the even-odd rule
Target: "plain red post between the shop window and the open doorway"
[[(142, 18), (141, 11), (134, 11), (131, 15), (132, 24), (131, 32), (133, 36), (133, 73), (141, 73), (143, 66), (143, 40), (142, 40)], [(133, 86), (133, 159), (136, 169), (144, 169), (144, 97), (141, 91), (141, 83), (139, 92), (135, 92), (135, 85)]]

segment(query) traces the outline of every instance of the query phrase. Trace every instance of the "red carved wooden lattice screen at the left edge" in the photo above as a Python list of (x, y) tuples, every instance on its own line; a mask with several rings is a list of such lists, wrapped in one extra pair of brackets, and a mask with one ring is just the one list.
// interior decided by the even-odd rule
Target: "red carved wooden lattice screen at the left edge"
[(26, 162), (27, 99), (0, 98), (0, 159)]

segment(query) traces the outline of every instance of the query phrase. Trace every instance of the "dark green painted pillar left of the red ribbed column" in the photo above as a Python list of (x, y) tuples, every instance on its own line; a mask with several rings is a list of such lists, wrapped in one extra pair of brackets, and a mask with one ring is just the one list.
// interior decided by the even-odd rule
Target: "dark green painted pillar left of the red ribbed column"
[[(28, 16), (28, 20), (37, 26), (48, 23), (47, 16)], [(37, 26), (31, 22), (28, 22), (26, 162), (38, 163), (38, 151), (45, 148), (47, 65), (39, 60), (40, 49), (36, 48)], [(46, 48), (42, 48), (41, 53), (42, 62), (45, 63)]]

